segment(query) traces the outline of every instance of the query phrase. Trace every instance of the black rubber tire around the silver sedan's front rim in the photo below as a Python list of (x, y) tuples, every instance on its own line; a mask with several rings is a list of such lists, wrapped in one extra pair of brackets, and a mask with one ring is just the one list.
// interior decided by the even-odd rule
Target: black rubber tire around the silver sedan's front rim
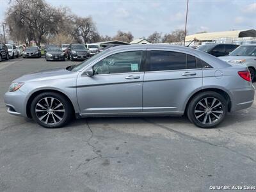
[[(44, 100), (45, 97), (52, 97), (52, 98), (56, 99), (58, 102), (61, 102), (65, 112), (63, 112), (64, 113), (63, 118), (60, 120), (60, 122), (57, 122), (56, 124), (45, 124), (46, 120), (44, 120), (44, 118), (42, 119), (42, 121), (45, 121), (45, 122), (42, 122), (38, 118), (38, 113), (39, 112), (36, 113), (36, 105), (38, 104), (38, 102), (40, 102), (40, 100)], [(51, 99), (48, 99), (48, 101), (50, 103)], [(53, 107), (51, 107), (51, 108), (54, 109)], [(45, 92), (45, 93), (40, 93), (39, 95), (37, 95), (35, 97), (35, 99), (33, 99), (33, 101), (31, 102), (30, 112), (31, 112), (31, 116), (32, 116), (33, 120), (35, 120), (35, 122), (37, 122), (42, 127), (45, 127), (45, 128), (59, 128), (59, 127), (63, 127), (64, 125), (67, 125), (68, 122), (70, 122), (70, 120), (72, 118), (73, 108), (72, 108), (72, 104), (70, 103), (70, 101), (65, 96), (61, 95), (60, 93)], [(45, 114), (46, 113), (49, 113), (49, 111), (45, 111)], [(57, 112), (55, 112), (54, 114), (57, 115)], [(54, 116), (54, 114), (51, 114), (51, 116), (48, 115), (49, 116), (49, 122), (54, 123), (53, 118), (52, 118), (52, 116)], [(58, 115), (60, 115), (60, 114), (58, 114)], [(55, 116), (55, 119), (58, 120), (58, 118), (56, 118), (56, 116)], [(48, 120), (47, 120), (47, 122), (48, 122)]]

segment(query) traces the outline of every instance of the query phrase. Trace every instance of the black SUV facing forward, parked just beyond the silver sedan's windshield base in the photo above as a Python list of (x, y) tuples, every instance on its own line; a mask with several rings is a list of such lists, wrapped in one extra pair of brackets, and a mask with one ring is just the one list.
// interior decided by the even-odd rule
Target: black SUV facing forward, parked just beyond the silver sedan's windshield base
[(67, 48), (66, 54), (70, 61), (85, 60), (90, 56), (90, 52), (87, 51), (83, 44), (70, 44)]

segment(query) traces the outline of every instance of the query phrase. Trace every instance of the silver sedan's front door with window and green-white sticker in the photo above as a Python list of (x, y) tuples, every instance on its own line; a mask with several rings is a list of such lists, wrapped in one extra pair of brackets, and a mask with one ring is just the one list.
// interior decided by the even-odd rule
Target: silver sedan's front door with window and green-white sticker
[(142, 111), (143, 51), (111, 54), (95, 63), (93, 76), (77, 77), (82, 115), (111, 115)]

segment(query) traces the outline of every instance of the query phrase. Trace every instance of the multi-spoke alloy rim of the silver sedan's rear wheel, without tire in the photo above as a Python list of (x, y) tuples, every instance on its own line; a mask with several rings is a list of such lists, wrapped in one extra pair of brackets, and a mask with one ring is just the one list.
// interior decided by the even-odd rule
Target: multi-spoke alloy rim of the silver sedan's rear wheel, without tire
[(223, 104), (214, 97), (205, 97), (195, 107), (196, 120), (201, 124), (214, 124), (221, 119), (223, 113)]

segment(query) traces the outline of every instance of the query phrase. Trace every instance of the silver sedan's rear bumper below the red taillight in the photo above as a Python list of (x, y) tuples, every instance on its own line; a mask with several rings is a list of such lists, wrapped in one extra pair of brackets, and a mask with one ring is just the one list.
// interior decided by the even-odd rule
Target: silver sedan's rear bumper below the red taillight
[(230, 90), (230, 92), (233, 95), (233, 98), (231, 100), (232, 102), (231, 111), (246, 109), (252, 106), (254, 102), (254, 94), (255, 94), (254, 86), (252, 86), (251, 88)]

